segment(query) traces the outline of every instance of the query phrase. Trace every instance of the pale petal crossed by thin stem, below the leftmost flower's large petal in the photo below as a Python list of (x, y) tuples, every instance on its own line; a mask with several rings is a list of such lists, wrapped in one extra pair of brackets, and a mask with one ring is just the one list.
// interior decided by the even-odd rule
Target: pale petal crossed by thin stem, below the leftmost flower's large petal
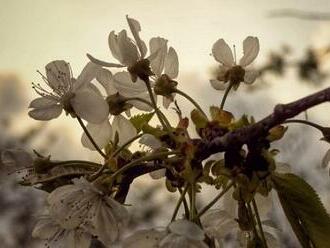
[[(95, 143), (101, 149), (104, 148), (111, 140), (112, 127), (108, 119), (105, 119), (100, 124), (88, 123), (86, 128), (90, 133), (90, 135), (93, 137)], [(81, 143), (83, 144), (84, 147), (92, 151), (96, 150), (94, 145), (90, 142), (89, 138), (87, 137), (86, 133), (83, 133), (83, 135), (81, 136)]]

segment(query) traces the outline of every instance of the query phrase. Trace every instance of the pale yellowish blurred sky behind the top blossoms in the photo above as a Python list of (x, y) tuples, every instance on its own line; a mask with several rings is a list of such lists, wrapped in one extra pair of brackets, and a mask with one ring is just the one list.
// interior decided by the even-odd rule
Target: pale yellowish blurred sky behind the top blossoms
[[(329, 5), (328, 0), (0, 0), (0, 71), (18, 74), (24, 82), (22, 89), (32, 99), (35, 94), (30, 83), (42, 82), (36, 70), (43, 71), (54, 59), (69, 61), (76, 76), (88, 62), (87, 52), (111, 61), (108, 34), (127, 29), (128, 14), (140, 21), (144, 40), (154, 36), (169, 40), (179, 54), (180, 88), (207, 107), (218, 103), (222, 95), (208, 83), (210, 66), (216, 64), (210, 56), (211, 47), (218, 38), (236, 44), (239, 58), (243, 39), (247, 35), (259, 37), (257, 64), (265, 61), (270, 50), (278, 50), (283, 44), (301, 54), (308, 46), (330, 40), (329, 22), (269, 18), (269, 12), (282, 8), (327, 11)], [(271, 111), (276, 101), (292, 101), (315, 91), (296, 84), (294, 78), (287, 80), (289, 83), (276, 83), (259, 94), (266, 101), (261, 104), (264, 111), (257, 104), (253, 114), (262, 117), (260, 113)], [(239, 103), (237, 108), (244, 106)], [(22, 118), (28, 120), (26, 113)], [(69, 118), (63, 118), (62, 123), (69, 121), (72, 125)], [(70, 133), (70, 129), (66, 132)]]

